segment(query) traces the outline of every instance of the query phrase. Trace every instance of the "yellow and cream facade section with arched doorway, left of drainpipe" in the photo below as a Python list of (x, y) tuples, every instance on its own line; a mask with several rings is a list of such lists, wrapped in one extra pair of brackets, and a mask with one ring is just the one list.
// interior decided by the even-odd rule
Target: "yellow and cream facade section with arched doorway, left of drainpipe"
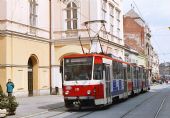
[(50, 93), (48, 0), (0, 0), (0, 84), (14, 95)]

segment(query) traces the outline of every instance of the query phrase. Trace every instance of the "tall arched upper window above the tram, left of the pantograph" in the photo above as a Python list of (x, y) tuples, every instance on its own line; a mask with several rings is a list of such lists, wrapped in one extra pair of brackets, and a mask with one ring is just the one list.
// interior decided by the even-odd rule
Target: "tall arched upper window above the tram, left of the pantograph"
[(70, 2), (67, 5), (67, 29), (77, 29), (77, 5), (74, 2)]

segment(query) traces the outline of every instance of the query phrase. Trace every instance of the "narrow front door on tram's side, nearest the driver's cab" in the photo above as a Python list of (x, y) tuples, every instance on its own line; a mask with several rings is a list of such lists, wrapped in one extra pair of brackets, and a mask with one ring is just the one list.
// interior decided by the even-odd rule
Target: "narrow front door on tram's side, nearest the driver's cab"
[(106, 99), (107, 103), (110, 103), (111, 102), (110, 65), (106, 65), (105, 78), (106, 78)]

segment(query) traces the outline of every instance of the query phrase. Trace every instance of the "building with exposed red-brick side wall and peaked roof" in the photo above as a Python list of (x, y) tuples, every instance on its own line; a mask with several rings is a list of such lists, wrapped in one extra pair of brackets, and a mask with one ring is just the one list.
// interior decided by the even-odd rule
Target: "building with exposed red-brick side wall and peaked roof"
[[(144, 21), (131, 9), (124, 15), (123, 23), (125, 45), (129, 49), (137, 51), (136, 64), (146, 67)], [(128, 51), (126, 51), (126, 53), (128, 53)], [(128, 60), (134, 60), (134, 56), (128, 56), (127, 58)], [(134, 63), (134, 61), (132, 63)]]

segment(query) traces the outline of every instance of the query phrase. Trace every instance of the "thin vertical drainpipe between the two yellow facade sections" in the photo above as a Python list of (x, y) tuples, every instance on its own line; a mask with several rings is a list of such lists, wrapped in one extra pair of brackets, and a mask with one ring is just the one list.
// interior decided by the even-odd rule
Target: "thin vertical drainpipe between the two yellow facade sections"
[(49, 79), (50, 79), (50, 94), (52, 94), (52, 76), (51, 76), (51, 43), (52, 43), (52, 30), (51, 30), (51, 0), (49, 0)]

